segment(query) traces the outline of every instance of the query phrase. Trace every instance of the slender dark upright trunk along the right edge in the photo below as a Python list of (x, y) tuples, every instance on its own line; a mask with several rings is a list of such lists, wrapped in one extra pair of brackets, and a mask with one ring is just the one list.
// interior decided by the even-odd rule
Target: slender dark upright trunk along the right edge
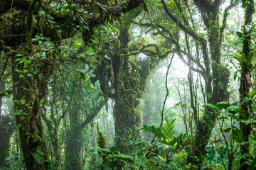
[[(255, 12), (254, 1), (250, 0), (245, 8), (245, 26), (244, 26), (244, 35), (245, 40), (242, 42), (242, 55), (245, 55), (246, 61), (240, 63), (241, 69), (241, 78), (240, 78), (240, 128), (242, 130), (242, 145), (240, 145), (240, 151), (245, 155), (245, 159), (240, 161), (242, 165), (240, 169), (248, 169), (249, 165), (246, 164), (246, 159), (250, 158), (250, 143), (249, 136), (252, 130), (251, 125), (245, 123), (245, 120), (252, 118), (252, 101), (246, 101), (246, 98), (250, 97), (250, 86), (251, 84), (251, 71), (252, 71), (252, 49), (251, 49), (251, 36), (250, 33), (252, 30), (247, 30), (246, 26), (252, 23), (252, 15)], [(249, 34), (249, 36), (247, 36)], [(242, 56), (241, 56), (242, 58)]]

